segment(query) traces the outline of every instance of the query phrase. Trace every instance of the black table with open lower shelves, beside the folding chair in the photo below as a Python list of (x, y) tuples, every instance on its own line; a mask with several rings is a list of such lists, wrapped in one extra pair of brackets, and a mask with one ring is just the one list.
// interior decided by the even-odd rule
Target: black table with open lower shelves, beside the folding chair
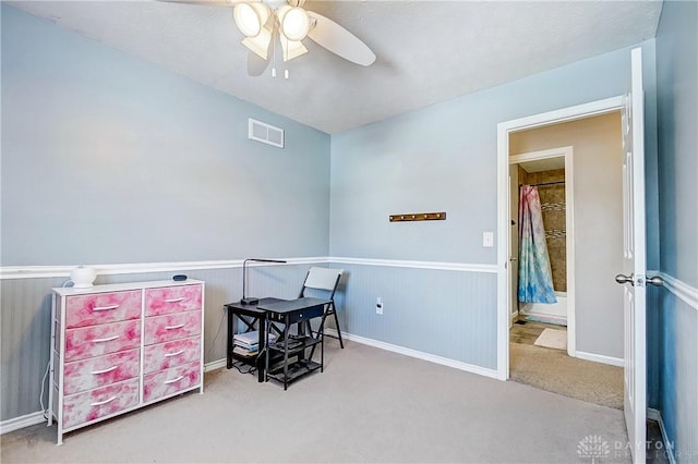
[[(322, 317), (325, 313), (325, 305), (330, 300), (302, 297), (290, 301), (260, 302), (257, 309), (266, 312), (266, 332), (272, 330), (279, 332), (276, 342), (269, 343), (265, 355), (265, 379), (269, 378), (284, 383), (284, 390), (288, 384), (299, 377), (310, 374), (316, 369), (323, 371), (325, 362), (325, 346), (323, 343), (323, 328), (313, 334), (310, 321)], [(274, 322), (282, 323), (280, 331)], [(291, 334), (290, 328), (297, 325), (297, 333)], [(314, 347), (320, 344), (320, 363), (312, 359)], [(306, 355), (306, 350), (311, 350)], [(278, 361), (276, 356), (278, 355)], [(291, 359), (296, 359), (291, 362)], [(276, 365), (275, 365), (276, 364)]]

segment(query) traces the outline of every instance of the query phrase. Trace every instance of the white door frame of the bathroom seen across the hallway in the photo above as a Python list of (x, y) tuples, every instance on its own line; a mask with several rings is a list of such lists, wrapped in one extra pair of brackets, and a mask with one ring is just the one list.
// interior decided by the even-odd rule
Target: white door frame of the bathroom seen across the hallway
[[(539, 159), (550, 158), (564, 158), (565, 160), (565, 276), (567, 281), (567, 354), (571, 357), (577, 356), (576, 350), (576, 325), (575, 325), (575, 175), (574, 175), (574, 147), (558, 147), (539, 151), (528, 151), (520, 155), (509, 156), (509, 168), (515, 164), (521, 164), (527, 161), (534, 161)], [(512, 197), (512, 183), (509, 182), (509, 198)], [(509, 211), (512, 208), (509, 207)], [(509, 212), (510, 215), (510, 212)], [(507, 223), (509, 223), (509, 219)], [(509, 234), (512, 233), (509, 228)], [(507, 244), (510, 246), (510, 237), (507, 239)], [(512, 252), (508, 252), (508, 256), (512, 256)], [(512, 262), (512, 261), (509, 261)], [(508, 288), (514, 285), (512, 279), (512, 272), (507, 272)], [(510, 295), (512, 293), (509, 293)], [(508, 302), (508, 306), (512, 307), (513, 302)], [(508, 343), (508, 341), (507, 341)], [(508, 344), (507, 344), (508, 346)]]

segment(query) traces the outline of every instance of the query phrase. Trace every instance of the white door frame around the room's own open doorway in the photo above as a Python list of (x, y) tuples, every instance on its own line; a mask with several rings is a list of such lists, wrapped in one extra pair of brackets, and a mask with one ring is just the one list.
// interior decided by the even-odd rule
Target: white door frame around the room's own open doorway
[(497, 124), (497, 374), (509, 378), (509, 134), (529, 129), (606, 114), (625, 108), (623, 95), (532, 114)]

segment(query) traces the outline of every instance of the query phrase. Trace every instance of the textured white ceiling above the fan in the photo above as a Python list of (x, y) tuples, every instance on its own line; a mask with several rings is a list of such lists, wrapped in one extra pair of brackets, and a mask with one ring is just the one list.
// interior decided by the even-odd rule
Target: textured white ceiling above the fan
[[(376, 53), (363, 68), (305, 39), (290, 78), (246, 75), (230, 8), (159, 1), (9, 2), (327, 133), (654, 37), (661, 1), (312, 1)], [(280, 74), (282, 75), (282, 73)]]

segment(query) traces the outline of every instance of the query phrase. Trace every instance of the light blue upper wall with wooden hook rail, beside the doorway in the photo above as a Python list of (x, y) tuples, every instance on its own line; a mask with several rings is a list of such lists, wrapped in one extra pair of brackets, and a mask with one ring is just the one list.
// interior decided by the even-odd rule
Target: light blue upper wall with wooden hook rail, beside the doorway
[[(647, 158), (655, 166), (654, 41), (641, 46)], [(496, 231), (497, 123), (625, 94), (629, 50), (333, 135), (330, 254), (495, 264), (496, 246), (484, 248), (482, 232)], [(428, 211), (446, 211), (447, 219), (388, 222), (392, 213)]]

